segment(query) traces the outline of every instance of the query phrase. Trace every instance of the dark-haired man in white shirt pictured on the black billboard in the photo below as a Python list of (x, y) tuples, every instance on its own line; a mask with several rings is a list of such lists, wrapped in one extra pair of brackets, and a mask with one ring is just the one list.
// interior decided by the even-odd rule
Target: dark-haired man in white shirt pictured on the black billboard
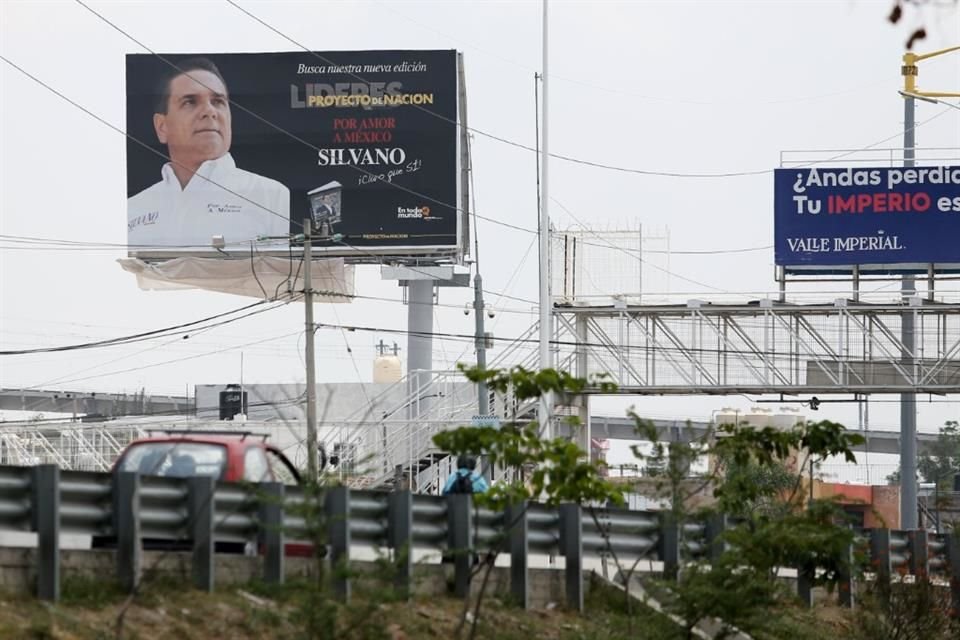
[(205, 58), (178, 65), (163, 82), (153, 126), (170, 162), (161, 180), (127, 201), (127, 242), (149, 249), (203, 250), (290, 232), (290, 191), (238, 169), (230, 155), (230, 96)]

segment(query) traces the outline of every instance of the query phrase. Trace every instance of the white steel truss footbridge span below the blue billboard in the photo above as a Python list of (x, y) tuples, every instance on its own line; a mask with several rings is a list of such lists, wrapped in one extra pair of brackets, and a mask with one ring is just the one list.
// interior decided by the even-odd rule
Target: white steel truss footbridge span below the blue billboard
[[(960, 391), (960, 304), (556, 307), (555, 362), (620, 393), (876, 394)], [(901, 328), (913, 323), (915, 349)]]

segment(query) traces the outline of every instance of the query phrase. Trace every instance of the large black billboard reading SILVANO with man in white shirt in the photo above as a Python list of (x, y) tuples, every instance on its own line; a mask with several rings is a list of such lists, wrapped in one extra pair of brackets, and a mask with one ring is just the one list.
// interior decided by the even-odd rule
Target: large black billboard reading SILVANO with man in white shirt
[(126, 81), (131, 256), (287, 255), (306, 218), (319, 253), (457, 253), (455, 51), (131, 54)]

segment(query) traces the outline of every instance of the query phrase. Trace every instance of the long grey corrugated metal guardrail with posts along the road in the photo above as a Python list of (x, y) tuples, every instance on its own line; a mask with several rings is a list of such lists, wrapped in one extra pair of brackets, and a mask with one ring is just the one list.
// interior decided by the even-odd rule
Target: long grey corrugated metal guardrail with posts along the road
[[(142, 565), (143, 540), (165, 541), (193, 553), (194, 585), (213, 589), (217, 543), (253, 545), (263, 555), (264, 579), (284, 579), (285, 545), (323, 539), (332, 563), (350, 560), (357, 546), (393, 550), (400, 586), (413, 574), (410, 551), (437, 551), (453, 562), (454, 592), (470, 587), (473, 556), (489, 550), (510, 555), (511, 591), (528, 603), (528, 558), (565, 559), (567, 601), (583, 606), (583, 559), (616, 554), (620, 559), (659, 560), (668, 579), (687, 563), (710, 562), (723, 551), (723, 516), (676, 522), (669, 512), (559, 507), (527, 503), (493, 511), (470, 495), (429, 496), (331, 487), (316, 501), (301, 487), (279, 483), (238, 484), (210, 477), (186, 479), (61, 471), (55, 465), (0, 466), (0, 531), (34, 531), (38, 542), (37, 594), (60, 593), (60, 534), (89, 535), (115, 543), (117, 578), (133, 588)], [(320, 524), (323, 536), (319, 535)], [(850, 549), (869, 553), (879, 579), (895, 573), (951, 577), (960, 610), (960, 540), (926, 530), (865, 530)], [(797, 567), (798, 592), (811, 601), (815, 567)], [(840, 585), (842, 604), (852, 605), (852, 576)], [(350, 596), (346, 575), (335, 590)]]

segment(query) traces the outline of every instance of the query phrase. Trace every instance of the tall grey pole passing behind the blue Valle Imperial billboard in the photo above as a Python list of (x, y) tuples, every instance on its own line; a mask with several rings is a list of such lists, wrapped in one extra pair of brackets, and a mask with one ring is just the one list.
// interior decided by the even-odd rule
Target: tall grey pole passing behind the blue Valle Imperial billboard
[[(915, 69), (915, 67), (914, 67)], [(910, 73), (903, 67), (905, 77)], [(903, 102), (903, 166), (914, 166), (914, 109), (915, 101), (904, 96)], [(904, 312), (901, 316), (901, 341), (903, 342), (903, 364), (908, 372), (913, 371), (914, 352), (914, 311), (909, 299), (916, 293), (914, 277), (904, 274), (900, 285)], [(905, 381), (909, 384), (909, 380)], [(917, 398), (913, 393), (900, 394), (900, 528), (917, 528)]]

